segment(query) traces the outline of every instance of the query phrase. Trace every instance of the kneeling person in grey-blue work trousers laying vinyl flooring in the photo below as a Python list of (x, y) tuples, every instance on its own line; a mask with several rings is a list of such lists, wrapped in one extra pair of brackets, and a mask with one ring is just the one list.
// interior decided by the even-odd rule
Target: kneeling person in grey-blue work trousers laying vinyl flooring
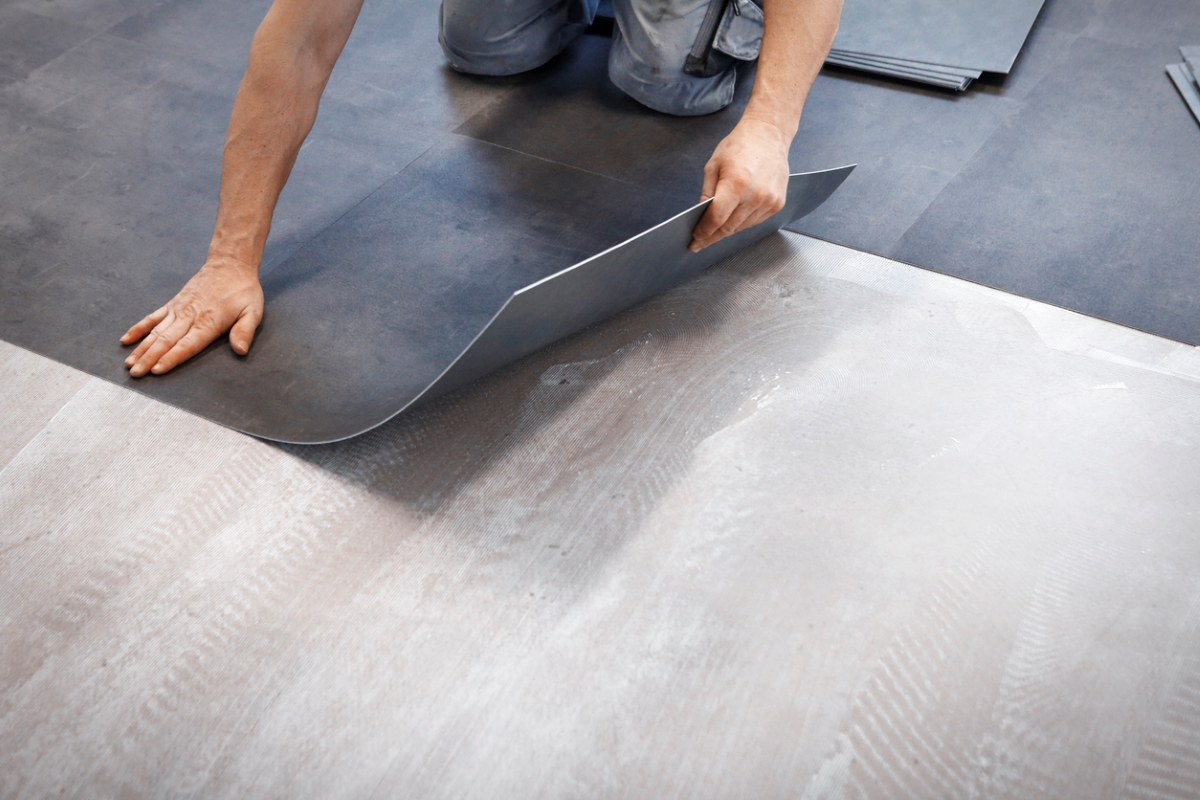
[[(599, 0), (443, 0), (451, 68), (514, 74), (547, 62), (593, 22)], [(208, 259), (166, 306), (131, 327), (130, 374), (169, 372), (226, 332), (240, 355), (263, 319), (258, 267), (271, 215), (317, 119), (362, 0), (275, 0), (254, 34), (226, 138)], [(742, 118), (704, 167), (712, 198), (698, 251), (784, 207), (787, 151), (833, 44), (841, 0), (613, 0), (608, 77), (665, 114), (710, 114), (733, 98), (738, 65), (757, 59)]]

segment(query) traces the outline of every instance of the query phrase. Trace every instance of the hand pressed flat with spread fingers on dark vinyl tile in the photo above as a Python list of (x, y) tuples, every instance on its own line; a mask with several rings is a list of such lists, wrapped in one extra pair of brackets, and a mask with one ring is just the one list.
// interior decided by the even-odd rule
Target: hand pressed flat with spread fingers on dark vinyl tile
[(166, 306), (131, 327), (121, 344), (140, 342), (125, 360), (130, 375), (161, 375), (229, 332), (234, 353), (246, 355), (263, 319), (258, 270), (234, 259), (210, 258)]

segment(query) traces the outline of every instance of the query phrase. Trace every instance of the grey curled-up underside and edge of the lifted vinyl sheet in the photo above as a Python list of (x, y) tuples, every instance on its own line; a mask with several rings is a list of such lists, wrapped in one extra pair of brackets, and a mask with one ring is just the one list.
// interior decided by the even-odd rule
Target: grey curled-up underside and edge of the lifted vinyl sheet
[(281, 439), (253, 431), (245, 433), (298, 445), (331, 444), (361, 435), (407, 410), (698, 275), (815, 210), (853, 169), (851, 164), (791, 175), (787, 201), (781, 211), (700, 253), (689, 251), (688, 245), (692, 229), (712, 200), (698, 203), (614, 247), (515, 291), (432, 384), (361, 431), (319, 440)]

